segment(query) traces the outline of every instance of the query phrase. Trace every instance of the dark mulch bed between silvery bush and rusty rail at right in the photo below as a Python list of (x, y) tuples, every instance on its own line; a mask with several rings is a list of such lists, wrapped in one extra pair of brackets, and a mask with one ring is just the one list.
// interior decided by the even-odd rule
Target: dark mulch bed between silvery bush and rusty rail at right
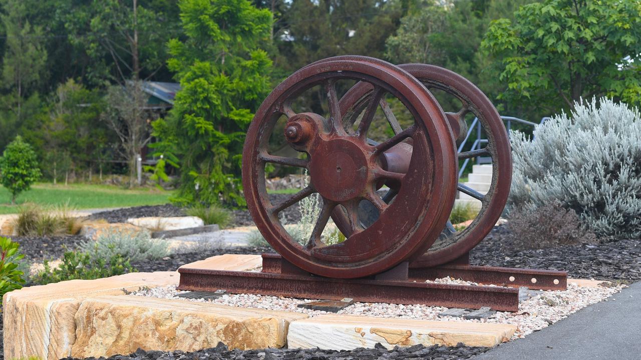
[(538, 250), (514, 249), (508, 229), (494, 227), (470, 251), (472, 265), (565, 270), (574, 279), (641, 279), (641, 241), (619, 240)]

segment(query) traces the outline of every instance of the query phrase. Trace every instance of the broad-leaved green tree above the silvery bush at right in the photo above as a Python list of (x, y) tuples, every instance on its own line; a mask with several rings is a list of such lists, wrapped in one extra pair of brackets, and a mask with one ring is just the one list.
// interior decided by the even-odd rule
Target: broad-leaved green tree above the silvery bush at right
[(549, 112), (608, 95), (641, 102), (641, 4), (545, 0), (499, 19), (483, 47), (501, 61), (501, 97)]

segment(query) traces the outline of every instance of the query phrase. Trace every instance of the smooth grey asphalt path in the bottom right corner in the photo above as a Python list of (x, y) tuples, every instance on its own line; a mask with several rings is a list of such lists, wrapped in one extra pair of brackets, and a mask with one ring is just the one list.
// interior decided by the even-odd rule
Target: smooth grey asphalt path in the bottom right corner
[(641, 359), (641, 282), (475, 360)]

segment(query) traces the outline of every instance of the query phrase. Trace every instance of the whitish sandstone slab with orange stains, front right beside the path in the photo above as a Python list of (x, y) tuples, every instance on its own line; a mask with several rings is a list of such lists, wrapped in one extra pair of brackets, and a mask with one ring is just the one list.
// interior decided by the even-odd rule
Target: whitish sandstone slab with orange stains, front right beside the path
[(391, 349), (417, 344), (494, 347), (508, 341), (516, 325), (321, 315), (293, 322), (287, 335), (289, 348), (352, 350), (376, 343)]

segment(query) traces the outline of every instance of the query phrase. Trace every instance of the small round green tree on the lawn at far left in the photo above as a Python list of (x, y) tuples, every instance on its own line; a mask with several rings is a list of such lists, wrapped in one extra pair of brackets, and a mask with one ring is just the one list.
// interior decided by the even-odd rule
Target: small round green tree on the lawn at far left
[(0, 183), (11, 192), (11, 203), (19, 193), (29, 190), (40, 179), (40, 168), (35, 151), (21, 136), (4, 149), (0, 158)]

